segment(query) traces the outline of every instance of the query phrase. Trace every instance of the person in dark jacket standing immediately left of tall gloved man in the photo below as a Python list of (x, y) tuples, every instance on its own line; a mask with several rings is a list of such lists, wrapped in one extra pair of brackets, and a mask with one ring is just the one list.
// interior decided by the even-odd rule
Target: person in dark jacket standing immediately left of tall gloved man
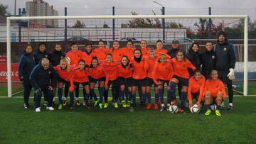
[(215, 52), (213, 50), (213, 43), (206, 43), (206, 52), (201, 54), (201, 62), (202, 62), (202, 74), (206, 79), (210, 78), (210, 71), (215, 67)]

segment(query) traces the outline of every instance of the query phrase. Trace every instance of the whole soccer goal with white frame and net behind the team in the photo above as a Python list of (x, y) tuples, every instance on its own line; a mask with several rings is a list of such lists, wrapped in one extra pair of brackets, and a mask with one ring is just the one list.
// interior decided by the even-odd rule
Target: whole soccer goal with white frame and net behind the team
[[(13, 26), (14, 21), (26, 22), (18, 30)], [(44, 23), (44, 24), (40, 24)], [(57, 24), (56, 24), (57, 23)], [(47, 48), (54, 50), (55, 43), (62, 43), (63, 50), (68, 51), (68, 43), (78, 41), (78, 46), (84, 50), (85, 43), (92, 41), (97, 47), (97, 41), (105, 40), (107, 48), (112, 47), (113, 40), (119, 40), (120, 47), (126, 45), (127, 39), (132, 39), (135, 47), (139, 47), (140, 40), (146, 40), (149, 48), (156, 48), (156, 40), (164, 42), (164, 48), (171, 48), (172, 40), (178, 40), (180, 48), (188, 50), (191, 43), (198, 42), (200, 50), (205, 50), (205, 43), (215, 45), (217, 31), (235, 31), (240, 39), (228, 35), (235, 45), (237, 64), (236, 79), (242, 89), (238, 90), (243, 96), (248, 95), (248, 17), (247, 15), (131, 15), (131, 16), (32, 16), (8, 17), (6, 23), (6, 57), (7, 57), (7, 86), (8, 96), (13, 95), (12, 65), (17, 62), (18, 53), (24, 43), (34, 45), (47, 43)], [(238, 27), (240, 26), (240, 27)], [(15, 37), (15, 35), (18, 35)], [(251, 45), (253, 46), (253, 45)], [(18, 49), (18, 48), (19, 49)], [(250, 47), (250, 45), (249, 45)], [(253, 60), (252, 60), (253, 61)], [(256, 60), (255, 60), (256, 61)], [(253, 70), (252, 70), (253, 71)], [(254, 72), (254, 71), (253, 71)]]

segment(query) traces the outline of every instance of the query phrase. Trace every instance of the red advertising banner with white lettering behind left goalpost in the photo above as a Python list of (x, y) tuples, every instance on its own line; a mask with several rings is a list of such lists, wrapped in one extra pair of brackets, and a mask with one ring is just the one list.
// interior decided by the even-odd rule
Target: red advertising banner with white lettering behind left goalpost
[[(11, 81), (19, 82), (18, 63), (11, 64)], [(0, 82), (7, 82), (7, 63), (0, 62)]]

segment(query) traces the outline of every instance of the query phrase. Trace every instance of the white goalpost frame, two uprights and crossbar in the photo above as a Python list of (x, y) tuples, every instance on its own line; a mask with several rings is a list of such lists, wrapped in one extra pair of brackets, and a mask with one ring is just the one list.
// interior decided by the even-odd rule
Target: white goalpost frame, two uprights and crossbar
[(132, 15), (132, 16), (23, 16), (6, 18), (6, 49), (7, 49), (7, 86), (8, 97), (11, 92), (11, 21), (28, 20), (78, 20), (78, 19), (133, 19), (133, 18), (242, 18), (244, 20), (244, 74), (243, 95), (247, 96), (247, 62), (248, 62), (248, 17), (247, 15)]

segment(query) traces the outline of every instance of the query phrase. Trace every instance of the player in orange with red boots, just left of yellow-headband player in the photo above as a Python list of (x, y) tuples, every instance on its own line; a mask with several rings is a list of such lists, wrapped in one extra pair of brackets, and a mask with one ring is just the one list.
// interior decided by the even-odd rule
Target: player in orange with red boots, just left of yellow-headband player
[(149, 50), (149, 57), (146, 57), (146, 65), (148, 65), (147, 71), (147, 83), (146, 83), (146, 99), (147, 99), (147, 106), (146, 109), (151, 109), (152, 104), (151, 104), (151, 87), (154, 84), (155, 88), (155, 104), (154, 104), (154, 109), (158, 109), (158, 95), (157, 95), (157, 86), (156, 83), (154, 83), (153, 80), (153, 70), (154, 66), (156, 64), (156, 61), (159, 60), (158, 57), (156, 57), (156, 52), (155, 50)]

